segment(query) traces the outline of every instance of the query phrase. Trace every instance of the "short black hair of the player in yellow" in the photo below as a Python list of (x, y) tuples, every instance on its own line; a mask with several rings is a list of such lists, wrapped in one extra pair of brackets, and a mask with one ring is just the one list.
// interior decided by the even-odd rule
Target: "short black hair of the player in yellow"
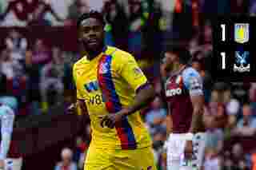
[(102, 25), (105, 26), (105, 18), (102, 13), (96, 11), (96, 10), (90, 10), (88, 13), (82, 14), (77, 21), (77, 28), (81, 25), (81, 22), (87, 18), (95, 18), (99, 22), (102, 22)]

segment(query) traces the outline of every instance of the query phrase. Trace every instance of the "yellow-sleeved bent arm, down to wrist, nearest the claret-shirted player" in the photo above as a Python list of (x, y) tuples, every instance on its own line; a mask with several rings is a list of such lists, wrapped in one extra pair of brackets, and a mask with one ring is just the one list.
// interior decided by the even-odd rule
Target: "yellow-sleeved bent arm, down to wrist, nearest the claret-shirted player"
[(121, 76), (136, 91), (133, 104), (126, 108), (127, 115), (135, 113), (153, 101), (155, 97), (154, 87), (147, 81), (133, 56), (127, 56), (123, 60)]

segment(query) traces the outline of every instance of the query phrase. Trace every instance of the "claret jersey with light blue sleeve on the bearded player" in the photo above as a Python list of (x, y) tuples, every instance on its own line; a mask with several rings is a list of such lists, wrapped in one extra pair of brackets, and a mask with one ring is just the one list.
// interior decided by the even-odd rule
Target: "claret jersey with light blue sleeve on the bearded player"
[(201, 76), (195, 69), (186, 67), (167, 79), (165, 91), (169, 114), (173, 119), (173, 131), (188, 132), (193, 114), (190, 97), (203, 95)]

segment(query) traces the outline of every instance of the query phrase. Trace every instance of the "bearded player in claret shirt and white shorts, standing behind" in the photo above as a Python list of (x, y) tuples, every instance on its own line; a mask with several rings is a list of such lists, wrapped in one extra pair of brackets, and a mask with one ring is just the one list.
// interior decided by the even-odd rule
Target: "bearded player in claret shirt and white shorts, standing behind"
[(200, 169), (205, 148), (202, 123), (202, 78), (188, 64), (190, 52), (182, 45), (167, 47), (162, 75), (168, 105), (166, 128), (167, 169)]

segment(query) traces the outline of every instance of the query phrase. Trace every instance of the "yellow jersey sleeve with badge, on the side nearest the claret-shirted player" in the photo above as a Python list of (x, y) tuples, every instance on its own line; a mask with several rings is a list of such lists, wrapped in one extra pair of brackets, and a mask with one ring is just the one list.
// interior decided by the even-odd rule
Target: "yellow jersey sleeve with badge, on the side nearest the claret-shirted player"
[(148, 81), (132, 55), (122, 56), (120, 74), (134, 91), (142, 89)]

